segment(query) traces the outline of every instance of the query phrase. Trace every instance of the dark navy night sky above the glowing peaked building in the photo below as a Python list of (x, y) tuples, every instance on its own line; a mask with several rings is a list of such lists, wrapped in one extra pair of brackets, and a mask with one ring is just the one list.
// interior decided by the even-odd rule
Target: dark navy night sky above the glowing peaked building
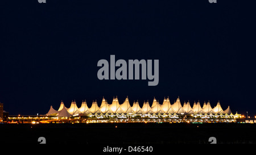
[[(180, 97), (256, 115), (255, 5), (238, 0), (1, 2), (0, 102), (9, 115)], [(99, 80), (98, 60), (159, 60), (159, 84)], [(117, 69), (117, 68), (116, 68)]]

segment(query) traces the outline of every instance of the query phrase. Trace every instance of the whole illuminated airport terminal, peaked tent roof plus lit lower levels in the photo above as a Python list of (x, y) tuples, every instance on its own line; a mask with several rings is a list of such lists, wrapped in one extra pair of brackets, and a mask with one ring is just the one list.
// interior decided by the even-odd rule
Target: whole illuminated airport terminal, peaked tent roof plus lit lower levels
[(164, 98), (162, 104), (154, 98), (150, 103), (144, 102), (139, 106), (139, 102), (130, 105), (128, 97), (122, 104), (119, 104), (118, 98), (113, 98), (112, 104), (109, 104), (104, 98), (101, 105), (97, 101), (92, 103), (89, 108), (86, 101), (83, 101), (81, 107), (77, 107), (76, 101), (72, 101), (69, 108), (65, 107), (61, 101), (58, 110), (52, 106), (46, 116), (55, 119), (82, 119), (86, 123), (90, 122), (236, 122), (236, 118), (241, 118), (240, 114), (233, 114), (230, 107), (222, 110), (220, 102), (212, 108), (210, 102), (204, 102), (201, 107), (200, 102), (193, 103), (191, 107), (189, 102), (184, 102), (183, 106), (180, 99), (177, 98), (174, 104), (171, 104), (169, 98)]

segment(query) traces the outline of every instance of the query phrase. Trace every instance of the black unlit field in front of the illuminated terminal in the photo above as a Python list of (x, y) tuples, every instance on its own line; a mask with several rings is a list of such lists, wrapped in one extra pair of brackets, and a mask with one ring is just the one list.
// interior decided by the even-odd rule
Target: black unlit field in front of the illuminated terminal
[(99, 123), (0, 124), (1, 143), (38, 144), (255, 144), (256, 124)]

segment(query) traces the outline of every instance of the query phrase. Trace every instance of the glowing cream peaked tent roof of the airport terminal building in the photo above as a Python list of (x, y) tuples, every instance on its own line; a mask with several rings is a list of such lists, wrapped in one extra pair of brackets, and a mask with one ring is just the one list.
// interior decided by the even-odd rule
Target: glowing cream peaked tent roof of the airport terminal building
[(65, 107), (64, 102), (61, 100), (59, 110), (55, 110), (52, 106), (46, 114), (47, 116), (56, 116), (57, 118), (68, 118), (71, 116), (95, 116), (96, 118), (133, 118), (134, 116), (141, 116), (144, 118), (179, 118), (179, 116), (200, 117), (208, 118), (236, 118), (239, 114), (233, 115), (230, 107), (223, 111), (220, 102), (216, 107), (212, 108), (210, 102), (204, 103), (203, 108), (200, 102), (195, 102), (193, 108), (189, 102), (184, 102), (183, 106), (180, 103), (180, 98), (177, 98), (174, 104), (170, 103), (169, 97), (164, 98), (163, 104), (160, 104), (155, 98), (150, 103), (144, 102), (143, 106), (139, 106), (139, 102), (134, 101), (133, 106), (130, 105), (128, 97), (122, 104), (119, 104), (118, 98), (113, 98), (112, 104), (108, 104), (105, 98), (102, 99), (101, 106), (98, 107), (97, 101), (92, 103), (90, 108), (86, 101), (82, 101), (81, 107), (78, 108), (76, 102), (72, 101), (69, 108)]

